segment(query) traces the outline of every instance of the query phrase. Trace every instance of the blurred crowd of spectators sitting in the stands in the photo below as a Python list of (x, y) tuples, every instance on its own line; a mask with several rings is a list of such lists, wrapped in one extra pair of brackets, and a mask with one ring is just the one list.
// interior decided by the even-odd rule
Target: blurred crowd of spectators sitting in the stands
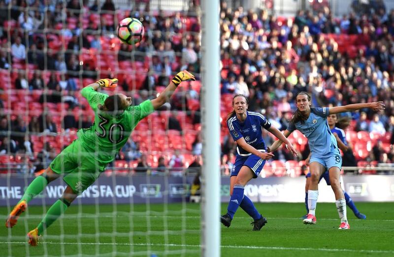
[[(88, 5), (88, 1), (81, 4), (79, 0), (45, 2), (46, 5), (39, 0), (0, 0), (0, 23), (4, 25), (0, 29), (0, 68), (12, 69), (12, 73), (18, 70), (12, 88), (27, 92), (41, 90), (40, 103), (66, 103), (66, 115), (60, 123), (62, 127), (45, 113), (34, 115), (29, 123), (18, 116), (9, 120), (9, 115), (1, 115), (1, 153), (30, 152), (33, 159), (37, 152), (34, 154), (30, 137), (25, 137), (26, 131), (57, 133), (61, 129), (90, 126), (86, 115), (83, 120), (75, 119), (75, 109), (89, 109), (74, 93), (82, 87), (79, 81), (121, 75), (101, 61), (85, 60), (88, 50), (104, 58), (113, 56), (119, 70), (123, 69), (121, 63), (142, 64), (140, 71), (144, 76), (138, 92), (130, 92), (134, 89), (130, 79), (119, 77), (121, 88), (133, 94), (135, 104), (154, 97), (175, 71), (188, 69), (197, 76), (200, 73), (200, 20), (196, 13), (167, 15), (164, 11), (149, 10), (149, 4), (145, 10), (114, 12), (112, 0), (102, 5), (99, 1), (92, 5)], [(23, 8), (27, 6), (29, 8)], [(126, 44), (104, 45), (111, 42), (122, 13), (143, 19), (145, 40), (134, 49)], [(280, 130), (289, 124), (299, 91), (308, 92), (315, 107), (383, 101), (385, 113), (361, 110), (345, 115), (351, 115), (352, 130), (393, 134), (394, 10), (378, 9), (372, 14), (350, 13), (337, 18), (328, 7), (323, 7), (314, 11), (299, 10), (295, 17), (285, 18), (269, 14), (266, 9), (244, 10), (242, 6), (231, 9), (222, 1), (220, 30), (223, 96), (247, 96), (249, 110), (263, 113)], [(31, 68), (34, 72), (29, 75)], [(50, 71), (48, 80), (43, 77), (46, 71)], [(199, 109), (192, 109), (188, 104), (198, 101), (198, 95), (191, 85), (181, 87), (165, 110), (187, 111), (193, 125), (198, 124)], [(224, 114), (230, 112), (227, 111), (229, 102), (222, 106), (226, 107)], [(225, 119), (225, 115), (222, 118)], [(181, 135), (186, 129), (174, 111), (165, 124), (165, 129), (177, 130)], [(8, 136), (10, 131), (12, 135)], [(226, 124), (222, 122), (221, 167), (223, 173), (229, 174), (235, 143), (226, 131)], [(264, 133), (269, 145), (273, 139)], [(394, 143), (393, 137), (390, 143)], [(199, 156), (201, 146), (198, 134), (190, 154)], [(47, 147), (50, 146), (42, 149)], [(163, 171), (163, 168), (149, 167), (146, 155), (150, 153), (141, 152), (139, 147), (138, 142), (130, 140), (117, 158), (139, 160), (139, 170), (144, 172)], [(393, 147), (389, 152), (381, 142), (372, 147), (374, 150), (367, 160), (394, 163)], [(307, 153), (307, 147), (300, 149), (298, 160), (305, 159)], [(275, 156), (283, 161), (293, 159), (285, 149)], [(159, 159), (161, 167), (166, 165), (174, 172), (185, 166), (182, 153), (177, 151), (167, 160), (163, 156)]]

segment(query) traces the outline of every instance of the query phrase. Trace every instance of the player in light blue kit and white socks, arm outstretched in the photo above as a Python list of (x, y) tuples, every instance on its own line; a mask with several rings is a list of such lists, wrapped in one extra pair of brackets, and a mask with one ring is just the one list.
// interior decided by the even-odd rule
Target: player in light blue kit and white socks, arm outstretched
[[(339, 229), (349, 229), (350, 225), (346, 216), (346, 201), (341, 185), (339, 174), (342, 165), (342, 157), (336, 143), (334, 135), (328, 126), (327, 116), (329, 114), (341, 113), (352, 110), (369, 108), (372, 110), (384, 110), (383, 102), (352, 104), (338, 107), (311, 108), (311, 98), (305, 92), (300, 92), (296, 96), (297, 110), (293, 114), (292, 120), (284, 135), (288, 137), (294, 130), (299, 130), (308, 139), (311, 150), (309, 169), (311, 172), (310, 184), (308, 189), (308, 208), (309, 213), (305, 224), (316, 224), (315, 210), (319, 196), (318, 184), (320, 177), (328, 170), (331, 188), (335, 194), (335, 205), (341, 219)], [(275, 141), (270, 151), (275, 151), (282, 145), (281, 139)]]

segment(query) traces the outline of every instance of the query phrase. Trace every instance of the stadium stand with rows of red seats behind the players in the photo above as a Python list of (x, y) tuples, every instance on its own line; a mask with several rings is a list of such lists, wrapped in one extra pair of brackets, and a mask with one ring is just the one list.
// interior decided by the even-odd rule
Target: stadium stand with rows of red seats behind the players
[[(17, 2), (20, 7), (26, 4)], [(91, 124), (92, 110), (78, 92), (84, 85), (117, 77), (121, 87), (115, 92), (133, 96), (138, 104), (161, 92), (176, 71), (200, 71), (200, 25), (187, 13), (168, 12), (164, 18), (155, 11), (101, 10), (105, 15), (100, 17), (93, 6), (76, 7), (71, 2), (52, 3), (47, 9), (35, 4), (30, 12), (1, 8), (8, 17), (2, 17), (0, 24), (2, 172), (32, 172), (40, 152), (50, 159), (49, 151), (59, 153), (76, 138), (78, 128)], [(129, 15), (144, 18), (147, 32), (145, 41), (134, 49), (113, 36), (118, 21)], [(245, 13), (226, 7), (221, 18), (221, 142), (231, 141), (225, 120), (234, 94), (249, 95), (249, 110), (262, 112), (284, 130), (295, 110), (294, 97), (302, 90), (312, 95), (314, 106), (384, 101), (386, 111), (377, 120), (367, 111), (360, 125), (361, 114), (352, 113), (346, 135), (359, 164), (394, 162), (394, 11), (383, 16), (350, 13), (339, 19), (325, 7), (288, 18), (266, 10)], [(146, 55), (149, 44), (154, 47), (152, 56)], [(240, 76), (244, 82), (236, 79)], [(167, 110), (150, 115), (136, 127), (133, 151), (154, 156), (148, 160), (152, 167), (159, 156), (168, 164), (176, 149), (192, 156), (200, 130), (200, 88), (199, 80), (184, 83)], [(66, 128), (68, 110), (76, 124)], [(170, 110), (177, 111), (182, 131), (168, 130)], [(306, 138), (296, 132), (291, 140), (300, 159), (282, 154), (264, 167), (264, 176), (301, 174), (299, 161), (306, 158), (308, 147)], [(382, 145), (375, 152), (380, 155), (372, 150), (378, 142)], [(45, 149), (46, 143), (51, 150)], [(234, 144), (229, 145), (227, 152), (233, 152)], [(139, 158), (138, 154), (128, 160), (124, 156), (121, 151), (113, 164), (118, 173), (130, 172)], [(30, 168), (16, 169), (21, 163)]]

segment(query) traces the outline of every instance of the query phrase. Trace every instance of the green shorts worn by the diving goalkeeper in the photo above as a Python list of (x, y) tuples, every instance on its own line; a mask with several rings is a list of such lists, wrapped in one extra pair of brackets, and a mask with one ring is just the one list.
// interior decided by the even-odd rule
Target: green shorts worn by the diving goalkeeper
[(63, 180), (74, 192), (81, 194), (99, 178), (107, 163), (95, 160), (94, 153), (82, 146), (79, 139), (74, 140), (68, 147), (51, 162), (53, 172), (65, 175)]

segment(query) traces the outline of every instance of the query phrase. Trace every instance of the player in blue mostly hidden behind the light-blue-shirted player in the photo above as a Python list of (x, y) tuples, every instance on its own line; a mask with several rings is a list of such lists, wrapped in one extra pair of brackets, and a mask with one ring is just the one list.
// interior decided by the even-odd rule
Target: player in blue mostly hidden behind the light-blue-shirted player
[[(347, 141), (346, 141), (346, 136), (345, 136), (345, 131), (343, 131), (343, 129), (336, 127), (337, 123), (338, 123), (338, 117), (337, 114), (330, 114), (327, 116), (327, 122), (328, 122), (328, 126), (331, 130), (331, 133), (334, 135), (335, 139), (336, 139), (336, 143), (338, 144), (339, 149), (341, 149), (343, 152), (346, 152), (349, 150)], [(340, 122), (343, 123), (343, 122)], [(347, 121), (345, 121), (344, 123), (348, 123)], [(339, 125), (338, 125), (339, 126)], [(341, 126), (343, 127), (343, 126)], [(346, 126), (347, 127), (347, 126)], [(305, 160), (305, 164), (309, 165), (309, 161), (310, 161), (310, 155), (308, 156), (308, 158), (306, 158)], [(305, 184), (305, 207), (306, 207), (306, 215), (303, 217), (304, 219), (306, 219), (306, 217), (308, 216), (309, 213), (309, 209), (308, 209), (308, 189), (309, 189), (309, 183), (310, 183), (310, 177), (311, 177), (311, 173), (309, 172), (306, 176), (306, 184)], [(331, 185), (331, 182), (329, 181), (329, 175), (328, 175), (328, 171), (326, 170), (326, 172), (320, 177), (319, 182), (324, 179), (327, 183), (327, 185)], [(342, 182), (342, 177), (340, 177), (340, 182)], [(343, 183), (341, 183), (343, 184)], [(352, 198), (349, 196), (349, 194), (343, 190), (343, 194), (345, 196), (345, 200), (346, 200), (346, 205), (349, 206), (350, 209), (352, 209), (354, 215), (361, 219), (361, 220), (365, 220), (366, 216), (364, 214), (362, 214), (356, 207), (356, 205), (354, 204)]]

